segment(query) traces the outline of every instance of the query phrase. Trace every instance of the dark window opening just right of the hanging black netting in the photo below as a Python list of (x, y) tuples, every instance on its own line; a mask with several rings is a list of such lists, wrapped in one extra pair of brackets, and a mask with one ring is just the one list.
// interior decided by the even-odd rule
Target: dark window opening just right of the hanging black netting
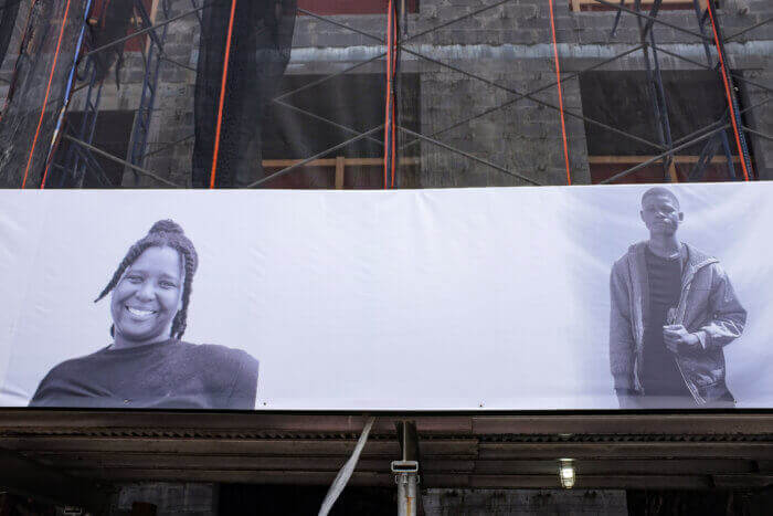
[[(292, 92), (322, 75), (285, 75), (280, 92)], [(417, 74), (400, 77), (400, 104), (404, 127), (420, 131), (420, 82)], [(385, 85), (382, 74), (352, 74), (330, 78), (283, 99), (300, 109), (364, 133), (384, 123)], [(338, 128), (278, 104), (272, 104), (263, 124), (263, 165), (267, 173), (315, 156), (356, 137)], [(311, 166), (294, 170), (271, 182), (272, 188), (382, 188), (383, 130), (322, 156)], [(399, 182), (415, 187), (419, 145), (399, 152)], [(337, 161), (338, 160), (338, 161)], [(317, 166), (314, 166), (317, 165)], [(342, 171), (341, 171), (342, 169)], [(337, 176), (338, 170), (338, 178)]]

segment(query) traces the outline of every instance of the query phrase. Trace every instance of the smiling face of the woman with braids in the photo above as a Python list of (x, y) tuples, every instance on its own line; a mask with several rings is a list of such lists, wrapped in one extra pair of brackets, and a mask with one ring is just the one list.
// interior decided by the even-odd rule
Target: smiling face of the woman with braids
[(152, 344), (169, 337), (182, 305), (182, 263), (171, 248), (148, 248), (113, 289), (110, 313), (117, 346)]

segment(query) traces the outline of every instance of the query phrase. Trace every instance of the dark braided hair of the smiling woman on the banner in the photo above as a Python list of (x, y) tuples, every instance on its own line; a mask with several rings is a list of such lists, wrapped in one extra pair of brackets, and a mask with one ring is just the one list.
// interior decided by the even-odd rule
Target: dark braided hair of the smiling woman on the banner
[[(124, 256), (124, 260), (118, 265), (118, 268), (113, 274), (110, 283), (102, 291), (99, 296), (94, 299), (94, 303), (105, 297), (120, 281), (124, 272), (149, 248), (171, 248), (180, 253), (183, 261), (186, 277), (182, 285), (182, 307), (174, 315), (170, 337), (180, 339), (186, 333), (188, 324), (188, 304), (191, 298), (191, 288), (193, 284), (193, 274), (199, 266), (199, 255), (195, 252), (193, 242), (186, 236), (186, 233), (180, 228), (180, 224), (172, 220), (159, 220), (156, 222), (142, 239), (135, 242), (129, 251)], [(115, 327), (110, 327), (110, 336), (115, 336)]]

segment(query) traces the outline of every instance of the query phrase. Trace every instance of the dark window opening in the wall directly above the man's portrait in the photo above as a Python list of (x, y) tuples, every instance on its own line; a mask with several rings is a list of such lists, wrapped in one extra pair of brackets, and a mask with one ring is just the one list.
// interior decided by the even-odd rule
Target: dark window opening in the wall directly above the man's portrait
[[(720, 75), (714, 71), (666, 71), (663, 86), (668, 104), (671, 139), (677, 146), (687, 141), (727, 115), (728, 104)], [(591, 119), (659, 144), (650, 87), (644, 71), (589, 72), (580, 77), (583, 114)], [(728, 120), (728, 119), (726, 119)], [(597, 183), (661, 154), (657, 148), (585, 123), (592, 182)], [(691, 136), (693, 135), (693, 136)], [(743, 175), (732, 129), (724, 131), (732, 156), (735, 177)], [(711, 160), (702, 170), (696, 164), (707, 145)], [(675, 169), (679, 181), (727, 181), (731, 179), (721, 134), (676, 152)], [(660, 160), (617, 182), (663, 182), (666, 177)]]

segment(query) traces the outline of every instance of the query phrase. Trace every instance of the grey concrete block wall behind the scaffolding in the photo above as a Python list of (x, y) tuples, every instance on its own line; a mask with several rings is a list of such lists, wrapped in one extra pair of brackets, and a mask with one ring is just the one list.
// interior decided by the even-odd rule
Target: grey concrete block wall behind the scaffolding
[[(420, 10), (409, 15), (407, 34), (417, 34), (464, 13), (496, 3), (491, 0), (423, 0)], [(557, 0), (555, 22), (560, 44), (562, 72), (569, 75), (578, 70), (629, 50), (638, 44), (638, 25), (633, 15), (624, 14), (614, 38), (610, 30), (614, 12), (572, 12), (568, 1)], [(188, 1), (173, 2), (172, 15), (190, 9)], [(721, 2), (722, 27), (726, 35), (760, 22), (773, 14), (769, 0), (724, 0)], [(489, 83), (465, 76), (458, 72), (421, 60), (407, 52), (403, 54), (403, 70), (421, 76), (421, 127), (432, 135), (475, 114), (491, 109), (511, 101), (515, 92), (527, 92), (554, 82), (554, 61), (551, 44), (547, 0), (511, 0), (504, 6), (485, 10), (464, 21), (449, 24), (438, 31), (417, 38), (409, 50), (438, 59), (466, 72), (480, 75)], [(21, 17), (20, 17), (21, 18)], [(659, 19), (675, 27), (697, 31), (693, 11), (666, 11)], [(338, 15), (339, 23), (354, 27), (378, 38), (384, 36), (385, 20), (382, 15)], [(692, 34), (674, 28), (656, 25), (658, 44), (664, 49), (705, 62), (703, 46)], [(195, 69), (198, 59), (199, 27), (194, 15), (170, 25), (167, 53), (170, 59)], [(13, 48), (13, 46), (12, 46)], [(336, 27), (313, 17), (297, 19), (294, 52), (287, 74), (325, 74), (340, 71), (383, 52), (380, 42)], [(750, 31), (728, 44), (729, 62), (734, 70), (743, 71), (763, 86), (773, 87), (771, 57), (773, 54), (773, 27)], [(8, 61), (8, 60), (7, 60)], [(697, 69), (690, 64), (661, 54), (666, 70)], [(636, 52), (602, 70), (644, 70), (642, 53)], [(8, 62), (0, 76), (8, 76)], [(353, 73), (373, 73), (383, 70), (383, 61), (360, 67)], [(141, 57), (128, 53), (120, 73), (121, 87), (116, 89), (110, 80), (105, 85), (102, 106), (105, 109), (133, 109), (139, 99), (142, 77)], [(193, 134), (193, 91), (195, 73), (166, 62), (151, 125), (151, 144), (148, 151)], [(504, 86), (508, 91), (497, 88)], [(587, 151), (585, 146), (582, 102), (576, 80), (564, 83), (569, 155), (572, 179), (575, 183), (589, 182)], [(748, 102), (763, 102), (766, 92), (744, 87)], [(0, 89), (1, 93), (1, 89)], [(313, 91), (306, 94), (314, 94)], [(558, 104), (555, 87), (536, 95), (547, 104)], [(290, 99), (292, 101), (292, 99)], [(73, 108), (78, 109), (82, 99), (76, 98)], [(748, 116), (748, 123), (771, 134), (773, 103), (759, 107)], [(621, 129), (625, 120), (621, 119)], [(412, 138), (409, 138), (412, 139)], [(565, 167), (561, 140), (561, 126), (555, 109), (521, 99), (508, 107), (476, 118), (468, 125), (437, 136), (443, 144), (458, 148), (483, 160), (496, 164), (508, 171), (526, 175), (547, 185), (565, 183)], [(655, 139), (655, 135), (650, 135)], [(773, 144), (762, 137), (750, 138), (758, 169), (762, 177), (773, 175)], [(403, 137), (403, 141), (406, 138)], [(463, 157), (437, 145), (423, 141), (421, 167), (412, 186), (472, 187), (525, 185), (483, 162)], [(145, 167), (180, 185), (190, 182), (192, 139), (150, 157)], [(303, 173), (297, 171), (294, 173)], [(125, 175), (124, 186), (158, 186), (153, 180)]]

